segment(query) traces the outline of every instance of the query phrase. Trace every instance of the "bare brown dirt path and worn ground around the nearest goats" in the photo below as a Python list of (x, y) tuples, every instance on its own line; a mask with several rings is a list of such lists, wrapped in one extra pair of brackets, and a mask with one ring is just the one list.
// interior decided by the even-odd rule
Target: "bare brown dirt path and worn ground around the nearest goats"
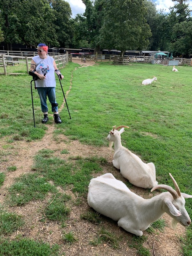
[[(87, 67), (93, 65), (94, 62), (81, 62), (79, 58), (73, 58), (73, 62), (80, 64), (82, 67)], [(72, 72), (73, 78), (73, 72)], [(71, 78), (71, 86), (73, 86)], [(70, 93), (69, 91), (66, 93), (66, 97)], [(66, 107), (64, 102), (60, 108)], [(52, 114), (50, 114), (50, 120), (52, 120)], [(6, 144), (5, 140), (0, 142), (0, 150), (4, 151), (5, 154), (1, 159), (0, 171), (6, 173), (6, 179), (3, 186), (0, 188), (0, 204), (3, 204), (6, 201), (7, 197), (7, 189), (13, 184), (16, 177), (19, 177), (23, 173), (27, 173), (31, 171), (31, 167), (33, 165), (33, 158), (36, 153), (40, 149), (53, 149), (57, 148), (58, 154), (63, 149), (67, 149), (69, 151), (70, 156), (104, 156), (109, 164), (109, 169), (104, 170), (105, 172), (116, 173), (117, 171), (112, 166), (113, 155), (106, 147), (97, 148), (88, 145), (82, 145), (78, 141), (71, 141), (64, 135), (58, 135), (58, 140), (54, 140), (52, 134), (55, 129), (55, 123), (49, 122), (46, 124), (48, 130), (46, 131), (45, 136), (42, 140), (38, 142), (26, 142), (26, 141), (15, 141), (14, 145), (10, 149), (4, 149), (4, 145)], [(66, 158), (68, 160), (68, 155), (62, 154), (60, 155), (63, 159)], [(16, 166), (17, 169), (14, 172), (8, 172), (7, 168), (9, 166)], [(116, 176), (119, 175), (119, 178), (122, 180), (120, 174), (116, 173)], [(133, 192), (136, 192), (138, 195), (145, 197), (146, 193), (144, 189), (141, 188), (133, 188)], [(72, 195), (70, 189), (65, 191), (65, 193), (71, 194), (74, 198), (76, 195)], [(62, 242), (62, 229), (60, 225), (56, 222), (40, 222), (39, 219), (42, 218), (42, 213), (39, 209), (43, 208), (47, 203), (49, 198), (46, 198), (44, 202), (35, 201), (30, 202), (26, 206), (23, 207), (12, 207), (9, 211), (17, 212), (21, 214), (25, 221), (26, 225), (24, 228), (17, 230), (12, 236), (13, 239), (19, 233), (23, 237), (34, 238), (34, 239), (43, 239), (44, 241), (49, 242), (50, 244), (60, 244), (62, 246), (63, 252), (66, 253), (66, 256), (70, 255), (110, 255), (110, 256), (137, 256), (136, 249), (130, 249), (127, 246), (127, 241), (132, 240), (132, 234), (124, 231), (121, 228), (117, 227), (116, 222), (108, 222), (107, 220), (102, 224), (106, 226), (112, 233), (116, 236), (122, 236), (124, 239), (121, 244), (119, 244), (119, 249), (113, 249), (108, 244), (100, 244), (98, 246), (91, 246), (90, 240), (95, 239), (98, 226), (93, 225), (92, 223), (88, 223), (86, 220), (81, 220), (80, 215), (82, 212), (85, 212), (87, 207), (87, 202), (84, 202), (80, 206), (73, 206), (72, 211), (70, 213), (70, 219), (67, 221), (66, 232), (74, 232), (75, 236), (78, 237), (78, 242), (73, 245), (68, 245)], [(151, 255), (155, 256), (181, 256), (180, 253), (180, 240), (179, 236), (183, 235), (185, 232), (185, 228), (178, 225), (176, 231), (173, 231), (171, 228), (171, 218), (164, 214), (163, 218), (166, 221), (167, 227), (165, 227), (164, 233), (159, 234), (148, 234), (144, 232), (144, 235), (148, 236), (148, 240), (145, 242), (144, 246), (149, 248)], [(50, 233), (51, 231), (51, 233)], [(130, 242), (129, 241), (129, 242)]]

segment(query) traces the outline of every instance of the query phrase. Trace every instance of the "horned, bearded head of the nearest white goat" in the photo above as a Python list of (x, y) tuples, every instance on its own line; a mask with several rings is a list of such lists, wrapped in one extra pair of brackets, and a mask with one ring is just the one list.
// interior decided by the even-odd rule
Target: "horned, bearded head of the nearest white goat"
[(175, 229), (177, 223), (179, 222), (182, 226), (189, 226), (191, 224), (191, 220), (189, 218), (188, 212), (185, 209), (185, 198), (192, 198), (192, 196), (188, 194), (184, 194), (180, 192), (179, 186), (175, 179), (172, 177), (171, 173), (169, 173), (173, 184), (175, 186), (175, 190), (168, 185), (157, 185), (156, 187), (151, 189), (151, 192), (155, 189), (163, 188), (166, 189), (169, 193), (171, 193), (172, 197), (165, 197), (165, 212), (167, 212), (172, 219), (172, 228)]

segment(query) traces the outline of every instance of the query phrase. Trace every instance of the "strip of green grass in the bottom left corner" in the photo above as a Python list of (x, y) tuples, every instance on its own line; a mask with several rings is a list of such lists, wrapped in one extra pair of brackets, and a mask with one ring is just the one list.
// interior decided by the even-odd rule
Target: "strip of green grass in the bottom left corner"
[(25, 238), (0, 241), (1, 256), (59, 256), (58, 249), (57, 244), (51, 247), (48, 243)]

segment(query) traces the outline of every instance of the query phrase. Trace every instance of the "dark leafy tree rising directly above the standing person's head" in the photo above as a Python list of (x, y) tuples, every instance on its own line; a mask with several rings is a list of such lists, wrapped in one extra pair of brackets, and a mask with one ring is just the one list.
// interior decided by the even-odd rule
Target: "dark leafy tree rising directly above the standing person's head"
[[(47, 0), (21, 0), (17, 11), (21, 43), (36, 47), (39, 43), (59, 46), (55, 15)], [(26, 15), (27, 13), (27, 15)]]

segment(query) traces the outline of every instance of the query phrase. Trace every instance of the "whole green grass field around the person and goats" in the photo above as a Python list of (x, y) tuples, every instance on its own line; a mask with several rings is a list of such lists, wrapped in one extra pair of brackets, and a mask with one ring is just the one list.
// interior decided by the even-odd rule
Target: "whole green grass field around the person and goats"
[[(172, 72), (172, 67), (169, 66), (140, 63), (125, 67), (100, 63), (75, 70), (76, 67), (78, 67), (77, 64), (69, 63), (62, 70), (65, 76), (62, 80), (64, 92), (69, 90), (71, 73), (73, 75), (67, 97), (72, 119), (69, 119), (67, 108), (63, 108), (60, 112), (62, 124), (55, 125), (53, 136), (64, 134), (70, 140), (79, 140), (82, 144), (107, 147), (106, 137), (112, 126), (127, 125), (130, 129), (125, 129), (126, 131), (122, 134), (123, 146), (140, 156), (143, 161), (155, 164), (156, 180), (159, 184), (173, 187), (169, 177), (169, 172), (171, 172), (181, 192), (192, 195), (192, 68), (179, 66), (179, 72)], [(20, 69), (22, 71), (22, 67)], [(141, 84), (142, 80), (153, 76), (157, 77), (156, 82), (151, 85)], [(34, 88), (36, 128), (33, 126), (30, 81), (31, 77), (26, 74), (0, 76), (0, 138), (4, 141), (0, 156), (6, 156), (9, 152), (11, 154), (14, 141), (38, 141), (46, 133), (46, 125), (41, 124), (43, 115), (38, 93)], [(56, 97), (60, 107), (63, 95), (58, 80), (56, 88)], [(50, 104), (48, 107), (51, 111)], [(62, 154), (68, 154), (68, 152), (63, 151)], [(50, 159), (49, 164), (44, 160), (45, 157)], [(3, 160), (0, 162), (2, 163)], [(78, 192), (82, 198), (86, 198), (89, 181), (93, 173), (101, 172), (105, 159), (80, 158), (77, 159), (76, 164), (74, 166), (73, 161), (65, 163), (59, 158), (54, 159), (51, 152), (39, 152), (33, 167), (34, 176), (24, 176), (10, 188), (9, 205), (27, 204), (34, 198), (43, 200), (47, 193), (57, 194), (54, 186), (44, 185), (47, 180), (53, 180), (57, 186), (73, 184), (73, 192)], [(55, 166), (58, 166), (58, 171), (54, 171), (53, 174)], [(68, 170), (63, 174), (65, 179), (58, 178), (61, 166), (65, 166), (65, 170)], [(75, 173), (74, 168), (81, 170), (79, 175)], [(9, 167), (9, 172), (15, 170), (15, 166)], [(73, 175), (71, 176), (70, 173)], [(4, 183), (6, 174), (7, 170), (0, 172), (0, 186)], [(33, 183), (32, 180), (36, 182)], [(31, 185), (29, 191), (26, 191), (26, 184)], [(41, 187), (42, 193), (32, 194), (32, 191), (38, 191), (38, 186)], [(17, 193), (20, 193), (22, 197), (16, 198), (14, 195)], [(60, 199), (55, 202), (55, 208), (46, 208), (46, 216), (52, 216), (50, 218), (53, 218), (52, 212), (56, 211), (54, 209), (57, 209), (58, 205), (70, 200), (70, 198), (63, 198), (60, 194), (57, 195)], [(186, 199), (186, 209), (192, 219), (192, 199)], [(59, 221), (62, 218), (66, 219), (70, 210), (66, 207), (62, 211), (58, 213), (58, 216), (54, 216), (56, 220), (57, 217)], [(1, 212), (0, 216), (4, 214)], [(15, 225), (19, 227), (20, 217), (18, 219), (13, 217)], [(1, 231), (2, 236), (10, 232), (10, 230)], [(73, 234), (65, 234), (64, 237), (69, 242), (76, 241)], [(186, 236), (181, 238), (182, 253), (185, 256), (192, 255), (191, 241), (190, 226), (187, 228)], [(27, 243), (34, 246), (32, 241), (23, 242), (24, 245)], [(4, 248), (11, 250), (11, 245), (7, 244), (3, 238), (1, 244)], [(54, 253), (56, 255), (55, 248), (51, 250), (46, 247), (43, 250), (46, 251), (44, 255), (54, 255)], [(1, 253), (3, 252), (0, 251), (0, 255), (5, 255)], [(19, 256), (19, 252), (17, 253), (15, 255)], [(150, 254), (140, 250), (139, 255)]]

